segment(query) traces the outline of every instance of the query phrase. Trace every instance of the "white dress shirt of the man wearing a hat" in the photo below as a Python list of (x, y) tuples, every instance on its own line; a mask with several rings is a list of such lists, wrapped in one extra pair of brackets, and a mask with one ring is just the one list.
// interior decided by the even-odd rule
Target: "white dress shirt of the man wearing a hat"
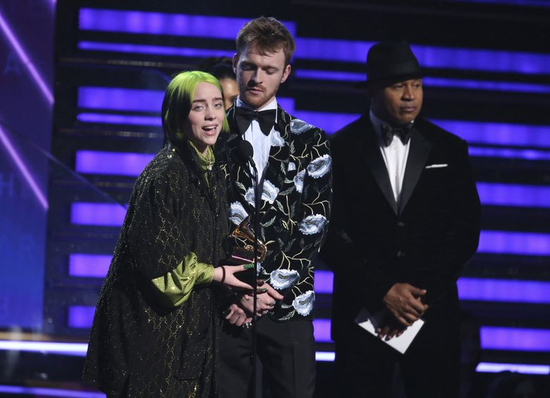
[(399, 205), (401, 199), (401, 188), (403, 188), (403, 179), (405, 178), (405, 167), (407, 166), (407, 158), (409, 155), (410, 140), (403, 145), (397, 135), (393, 135), (393, 140), (389, 146), (384, 145), (382, 140), (382, 124), (389, 124), (386, 121), (380, 119), (370, 111), (370, 121), (374, 127), (374, 131), (377, 133), (378, 143), (380, 146), (380, 152), (386, 169), (388, 170), (388, 176), (391, 183), (391, 189), (393, 191), (393, 197), (396, 199), (396, 203)]

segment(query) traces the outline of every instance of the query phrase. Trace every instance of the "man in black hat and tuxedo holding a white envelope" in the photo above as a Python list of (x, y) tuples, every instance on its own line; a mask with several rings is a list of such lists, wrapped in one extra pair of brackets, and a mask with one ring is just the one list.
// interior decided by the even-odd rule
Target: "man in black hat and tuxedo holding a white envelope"
[[(456, 280), (477, 249), (480, 217), (468, 147), (418, 116), (422, 70), (407, 43), (374, 44), (362, 85), (369, 111), (331, 140), (322, 249), (334, 271), (338, 387), (343, 397), (390, 397), (398, 367), (409, 398), (458, 397)], [(357, 324), (367, 317), (373, 334)], [(420, 318), (404, 354), (386, 344)]]

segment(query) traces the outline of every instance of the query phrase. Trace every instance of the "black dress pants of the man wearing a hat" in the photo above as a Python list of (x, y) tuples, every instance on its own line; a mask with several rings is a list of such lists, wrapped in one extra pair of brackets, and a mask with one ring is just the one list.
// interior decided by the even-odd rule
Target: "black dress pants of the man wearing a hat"
[(336, 390), (342, 397), (391, 397), (399, 366), (408, 398), (458, 398), (459, 329), (455, 320), (429, 321), (401, 354), (350, 324), (346, 338), (336, 342)]

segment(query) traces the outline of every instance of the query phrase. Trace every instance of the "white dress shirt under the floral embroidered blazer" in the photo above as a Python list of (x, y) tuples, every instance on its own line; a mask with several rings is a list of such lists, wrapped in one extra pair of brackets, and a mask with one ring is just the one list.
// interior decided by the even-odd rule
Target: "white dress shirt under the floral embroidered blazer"
[[(243, 101), (241, 101), (240, 97), (237, 98), (237, 102), (235, 105), (236, 107), (252, 109)], [(277, 109), (276, 98), (274, 98), (273, 101), (269, 102), (269, 104), (267, 104), (262, 109), (252, 109), (252, 110), (267, 111), (268, 109)], [(275, 116), (275, 123), (276, 122), (277, 122), (277, 116)], [(248, 127), (247, 131), (245, 131), (245, 133), (243, 134), (243, 139), (251, 143), (252, 148), (254, 148), (254, 155), (252, 156), (252, 159), (254, 159), (256, 168), (258, 169), (261, 186), (263, 186), (264, 171), (265, 171), (265, 167), (267, 166), (267, 161), (269, 159), (269, 151), (271, 150), (271, 135), (273, 134), (273, 129), (274, 128), (272, 127), (271, 131), (269, 131), (269, 135), (264, 135), (264, 133), (262, 133), (262, 130), (260, 130), (259, 128), (258, 121), (252, 120), (252, 123), (250, 123), (250, 126)], [(254, 169), (252, 169), (252, 167), (250, 167), (250, 172), (252, 172), (252, 174), (254, 173)]]

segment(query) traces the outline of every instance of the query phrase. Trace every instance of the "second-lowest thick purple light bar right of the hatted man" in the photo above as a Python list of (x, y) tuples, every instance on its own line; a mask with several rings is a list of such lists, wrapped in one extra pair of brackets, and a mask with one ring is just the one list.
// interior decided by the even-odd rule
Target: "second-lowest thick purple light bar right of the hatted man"
[(550, 304), (550, 282), (508, 279), (458, 279), (460, 300)]

